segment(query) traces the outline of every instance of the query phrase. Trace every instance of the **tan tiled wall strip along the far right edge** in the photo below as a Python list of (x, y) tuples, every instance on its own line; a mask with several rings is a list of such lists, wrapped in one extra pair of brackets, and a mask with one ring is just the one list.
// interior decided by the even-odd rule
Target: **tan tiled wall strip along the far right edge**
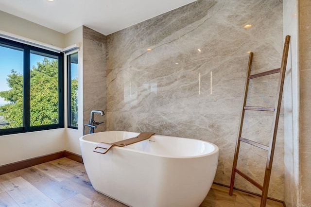
[(311, 1), (300, 0), (299, 69), (300, 69), (300, 199), (311, 205)]

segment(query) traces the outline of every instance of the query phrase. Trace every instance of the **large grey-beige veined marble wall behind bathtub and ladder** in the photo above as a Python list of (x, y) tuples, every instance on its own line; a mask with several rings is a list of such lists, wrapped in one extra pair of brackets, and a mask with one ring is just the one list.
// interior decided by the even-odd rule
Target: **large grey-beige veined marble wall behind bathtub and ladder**
[[(252, 26), (245, 29), (247, 24)], [(247, 52), (254, 52), (253, 71), (278, 68), (282, 32), (281, 0), (198, 0), (108, 35), (107, 130), (213, 142), (220, 148), (215, 182), (229, 185)], [(248, 103), (273, 105), (276, 79), (252, 83)], [(260, 118), (259, 113), (247, 115), (243, 134), (265, 143), (272, 115)], [(280, 200), (282, 120), (269, 190), (269, 196)], [(241, 151), (239, 168), (262, 183), (266, 153), (249, 146)], [(236, 187), (259, 192), (239, 177)]]

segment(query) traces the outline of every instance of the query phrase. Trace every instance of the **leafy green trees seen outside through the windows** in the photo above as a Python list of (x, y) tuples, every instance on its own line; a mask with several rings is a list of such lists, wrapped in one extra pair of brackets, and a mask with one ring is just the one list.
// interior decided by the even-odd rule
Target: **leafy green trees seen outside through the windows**
[[(58, 61), (44, 58), (30, 71), (31, 85), (31, 109), (30, 125), (40, 126), (58, 123)], [(0, 97), (10, 102), (0, 106), (0, 116), (4, 117), (8, 125), (2, 128), (14, 128), (23, 126), (23, 76), (15, 70), (8, 75), (7, 84), (9, 90), (0, 91)], [(77, 79), (71, 80), (72, 104), (77, 103)], [(72, 106), (72, 110), (76, 110)]]

